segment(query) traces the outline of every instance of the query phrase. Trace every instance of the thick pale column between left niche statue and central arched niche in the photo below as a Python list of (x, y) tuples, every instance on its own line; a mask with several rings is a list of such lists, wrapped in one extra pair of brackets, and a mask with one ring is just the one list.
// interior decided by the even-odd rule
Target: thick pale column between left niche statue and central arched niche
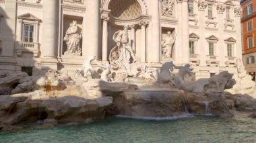
[(98, 57), (100, 40), (100, 0), (86, 1), (86, 15), (83, 31), (83, 56)]

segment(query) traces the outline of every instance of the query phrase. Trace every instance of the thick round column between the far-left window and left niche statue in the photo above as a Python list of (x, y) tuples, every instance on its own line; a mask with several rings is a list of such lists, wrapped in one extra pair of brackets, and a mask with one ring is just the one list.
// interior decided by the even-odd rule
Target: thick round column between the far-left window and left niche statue
[(42, 56), (55, 58), (57, 52), (57, 7), (59, 0), (44, 0), (42, 4)]

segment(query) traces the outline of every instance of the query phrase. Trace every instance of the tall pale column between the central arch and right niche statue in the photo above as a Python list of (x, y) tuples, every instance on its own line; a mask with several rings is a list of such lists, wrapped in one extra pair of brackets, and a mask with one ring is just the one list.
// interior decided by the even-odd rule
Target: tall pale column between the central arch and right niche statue
[(160, 62), (160, 11), (159, 0), (151, 0), (151, 48), (149, 50), (150, 62)]

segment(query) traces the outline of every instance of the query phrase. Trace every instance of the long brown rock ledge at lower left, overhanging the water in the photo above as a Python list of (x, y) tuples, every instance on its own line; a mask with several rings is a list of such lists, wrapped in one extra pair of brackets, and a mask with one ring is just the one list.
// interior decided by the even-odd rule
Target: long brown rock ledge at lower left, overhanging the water
[(13, 125), (36, 120), (43, 120), (46, 126), (100, 120), (112, 103), (112, 97), (49, 97), (40, 91), (3, 95), (0, 96), (0, 130), (17, 129)]

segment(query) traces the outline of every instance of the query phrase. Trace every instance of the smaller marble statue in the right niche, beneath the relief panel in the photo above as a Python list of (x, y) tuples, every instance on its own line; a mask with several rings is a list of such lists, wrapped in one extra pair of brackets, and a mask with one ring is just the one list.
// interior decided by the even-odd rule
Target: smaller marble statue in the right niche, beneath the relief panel
[(176, 37), (177, 34), (175, 35), (175, 37), (173, 37), (172, 32), (167, 32), (167, 35), (162, 40), (162, 58), (172, 57), (172, 46), (176, 40)]

